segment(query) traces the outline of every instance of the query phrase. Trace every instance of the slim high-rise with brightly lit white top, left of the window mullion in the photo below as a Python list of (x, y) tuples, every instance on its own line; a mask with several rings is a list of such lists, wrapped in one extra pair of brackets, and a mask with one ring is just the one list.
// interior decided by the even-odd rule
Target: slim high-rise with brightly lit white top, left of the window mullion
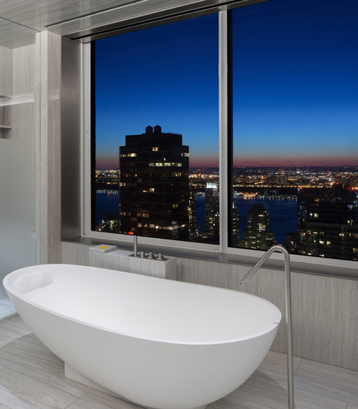
[(219, 241), (219, 189), (216, 183), (208, 182), (205, 189), (205, 238)]

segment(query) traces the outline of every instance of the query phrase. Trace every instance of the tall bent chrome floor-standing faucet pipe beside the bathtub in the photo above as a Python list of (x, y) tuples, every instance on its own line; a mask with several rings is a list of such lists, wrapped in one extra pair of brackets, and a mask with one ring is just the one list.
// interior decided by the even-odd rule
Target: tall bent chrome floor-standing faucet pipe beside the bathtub
[(288, 378), (288, 409), (294, 409), (294, 361), (293, 361), (293, 342), (292, 342), (292, 298), (291, 298), (291, 269), (289, 262), (289, 254), (287, 250), (281, 246), (272, 246), (260, 258), (260, 260), (251, 268), (248, 274), (240, 281), (240, 284), (246, 284), (262, 264), (274, 252), (280, 252), (284, 256), (284, 266), (286, 274), (286, 323), (287, 323), (287, 378)]

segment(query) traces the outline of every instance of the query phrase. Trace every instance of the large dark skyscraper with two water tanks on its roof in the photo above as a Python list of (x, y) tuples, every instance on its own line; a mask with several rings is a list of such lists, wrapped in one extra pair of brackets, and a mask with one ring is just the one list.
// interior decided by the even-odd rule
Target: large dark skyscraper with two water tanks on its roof
[(189, 240), (189, 147), (157, 125), (120, 150), (120, 232)]

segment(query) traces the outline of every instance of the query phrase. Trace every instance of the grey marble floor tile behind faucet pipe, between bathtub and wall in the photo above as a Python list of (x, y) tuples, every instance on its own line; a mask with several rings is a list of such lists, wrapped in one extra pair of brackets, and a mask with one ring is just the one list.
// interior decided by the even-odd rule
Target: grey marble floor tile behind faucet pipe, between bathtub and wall
[[(294, 371), (300, 365), (302, 358), (294, 356)], [(287, 355), (281, 352), (269, 351), (258, 367), (258, 371), (264, 373), (276, 382), (287, 384)]]

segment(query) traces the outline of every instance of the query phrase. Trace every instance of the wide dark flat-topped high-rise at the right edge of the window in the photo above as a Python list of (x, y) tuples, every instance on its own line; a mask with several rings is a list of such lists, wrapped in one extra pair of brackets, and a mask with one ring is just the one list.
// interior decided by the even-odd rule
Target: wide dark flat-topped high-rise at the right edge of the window
[(299, 189), (298, 236), (301, 254), (358, 260), (357, 191)]

